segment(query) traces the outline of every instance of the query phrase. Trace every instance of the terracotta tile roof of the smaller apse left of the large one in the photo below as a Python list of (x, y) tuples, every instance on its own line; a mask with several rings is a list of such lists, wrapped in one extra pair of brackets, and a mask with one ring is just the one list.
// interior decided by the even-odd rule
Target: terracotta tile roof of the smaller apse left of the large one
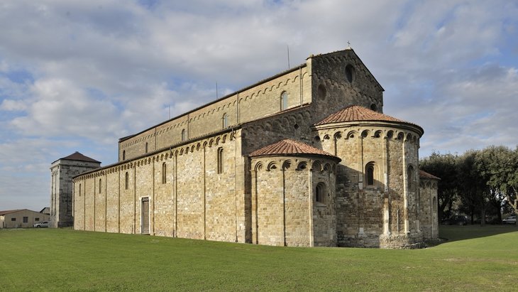
[(321, 156), (329, 156), (335, 159), (339, 159), (338, 157), (328, 153), (326, 151), (314, 148), (313, 146), (309, 146), (308, 144), (304, 144), (299, 141), (294, 141), (292, 139), (284, 139), (278, 141), (274, 144), (270, 144), (263, 148), (260, 148), (256, 151), (250, 153), (250, 156), (265, 156), (265, 155), (297, 155), (297, 154), (310, 154), (310, 155), (321, 155)]

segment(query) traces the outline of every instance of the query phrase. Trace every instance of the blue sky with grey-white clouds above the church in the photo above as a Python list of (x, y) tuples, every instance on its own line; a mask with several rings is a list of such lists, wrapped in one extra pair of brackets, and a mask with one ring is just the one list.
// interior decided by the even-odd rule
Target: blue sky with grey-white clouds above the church
[(50, 164), (351, 47), (420, 157), (518, 144), (518, 1), (1, 0), (0, 210), (50, 205)]

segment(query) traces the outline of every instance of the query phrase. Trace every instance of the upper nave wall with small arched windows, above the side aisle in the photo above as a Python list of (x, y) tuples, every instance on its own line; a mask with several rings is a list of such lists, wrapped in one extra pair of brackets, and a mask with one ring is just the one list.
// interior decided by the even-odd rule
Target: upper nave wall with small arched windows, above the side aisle
[(301, 65), (239, 92), (229, 94), (204, 107), (165, 121), (134, 136), (119, 141), (119, 161), (130, 160), (148, 152), (167, 148), (184, 140), (195, 139), (248, 121), (285, 110), (282, 93), (287, 93), (287, 109), (311, 102), (311, 76)]

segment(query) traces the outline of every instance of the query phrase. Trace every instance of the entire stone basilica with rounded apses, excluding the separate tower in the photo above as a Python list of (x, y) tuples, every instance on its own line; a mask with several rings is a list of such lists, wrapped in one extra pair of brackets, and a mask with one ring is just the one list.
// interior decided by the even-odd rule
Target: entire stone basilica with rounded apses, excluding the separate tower
[(437, 180), (351, 48), (119, 139), (73, 178), (74, 228), (295, 247), (420, 247)]

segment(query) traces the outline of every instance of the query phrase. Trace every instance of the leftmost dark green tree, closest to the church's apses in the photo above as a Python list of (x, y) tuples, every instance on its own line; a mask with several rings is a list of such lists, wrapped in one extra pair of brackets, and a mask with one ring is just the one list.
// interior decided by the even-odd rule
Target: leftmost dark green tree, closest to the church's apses
[(421, 170), (441, 178), (437, 186), (439, 221), (441, 221), (443, 217), (449, 217), (451, 215), (451, 206), (457, 197), (456, 160), (457, 156), (453, 154), (434, 152), (419, 162), (419, 168), (421, 168)]

